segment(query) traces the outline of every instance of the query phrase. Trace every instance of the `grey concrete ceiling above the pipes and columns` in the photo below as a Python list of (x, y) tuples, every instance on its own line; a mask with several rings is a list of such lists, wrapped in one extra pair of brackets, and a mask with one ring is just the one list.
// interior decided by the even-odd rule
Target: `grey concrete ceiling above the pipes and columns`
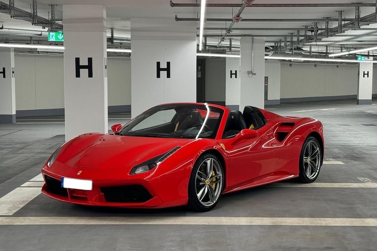
[[(195, 4), (200, 1), (194, 0), (174, 0), (174, 4)], [(5, 3), (8, 4), (8, 1)], [(208, 4), (241, 4), (241, 0), (207, 0)], [(375, 4), (374, 0), (255, 0), (254, 4), (351, 4), (351, 3), (369, 3)], [(31, 12), (30, 5), (32, 0), (15, 0), (15, 7), (22, 10)], [(39, 0), (38, 1), (38, 15), (46, 19), (50, 16), (50, 6), (56, 6), (56, 19), (62, 19), (62, 5), (104, 5), (107, 7), (107, 26), (109, 28), (108, 35), (110, 36), (110, 28), (115, 28), (115, 37), (130, 38), (130, 19), (131, 18), (169, 18), (174, 19), (175, 16), (178, 18), (198, 18), (200, 17), (199, 7), (170, 7), (169, 0)], [(206, 10), (206, 18), (208, 19), (231, 19), (234, 14), (237, 13), (239, 7), (210, 7)], [(355, 7), (280, 7), (280, 8), (262, 8), (262, 7), (247, 7), (241, 14), (243, 19), (322, 19), (322, 18), (338, 18), (336, 11), (344, 11), (343, 18), (354, 19), (355, 17)], [(375, 12), (375, 7), (360, 7), (361, 17), (370, 15)], [(184, 21), (182, 21), (184, 22)], [(31, 29), (36, 31), (43, 31), (42, 36), (33, 37), (33, 40), (47, 40), (45, 32), (47, 29), (42, 29), (38, 26), (32, 26), (30, 23), (10, 19), (9, 16), (0, 14), (0, 23), (4, 25), (4, 30), (0, 30), (0, 37), (6, 38), (12, 34), (24, 35), (28, 37), (31, 32), (22, 32), (15, 30), (7, 30), (7, 28), (13, 29)], [(197, 27), (199, 27), (199, 22), (195, 22)], [(231, 22), (207, 22), (205, 28), (226, 28)], [(338, 22), (330, 22), (329, 27), (336, 27)], [(284, 41), (284, 37), (288, 36), (288, 44), (291, 41), (290, 33), (294, 33), (294, 42), (296, 42), (297, 31), (295, 29), (303, 28), (303, 26), (313, 27), (312, 22), (240, 22), (236, 23), (233, 28), (292, 28), (293, 30), (265, 30), (265, 31), (245, 31), (245, 30), (234, 30), (231, 36), (241, 36), (241, 35), (274, 35), (281, 37), (266, 37), (266, 41), (278, 41), (281, 39)], [(325, 22), (318, 23), (319, 28), (325, 28)], [(377, 28), (373, 24), (368, 26), (361, 26), (361, 28)], [(322, 31), (320, 31), (322, 32)], [(24, 34), (23, 34), (24, 33)], [(198, 31), (199, 33), (199, 31)], [(225, 30), (206, 30), (205, 35), (223, 35)], [(37, 32), (38, 34), (38, 32)], [(301, 35), (304, 31), (300, 32)], [(309, 35), (312, 33), (309, 32)], [(345, 35), (349, 35), (346, 37)], [(366, 35), (366, 36), (365, 36)], [(375, 35), (375, 36), (374, 36)], [(319, 37), (318, 40), (321, 42), (306, 44), (301, 43), (300, 48), (304, 50), (309, 49), (309, 45), (312, 45), (313, 50), (324, 51), (325, 47), (322, 45), (341, 45), (346, 44), (349, 48), (352, 46), (362, 47), (369, 46), (370, 44), (377, 44), (377, 30), (353, 30), (346, 31), (342, 34), (331, 34), (331, 38)], [(231, 37), (229, 37), (231, 38)], [(233, 45), (239, 44), (239, 37), (233, 37)], [(303, 37), (301, 38), (303, 39)], [(358, 42), (350, 42), (352, 40), (357, 40)], [(216, 45), (220, 41), (220, 37), (208, 37), (208, 44)], [(323, 41), (329, 41), (328, 44), (323, 43)], [(347, 41), (344, 43), (331, 42), (331, 41)], [(360, 43), (359, 41), (366, 41)], [(369, 41), (369, 42), (368, 42)], [(228, 37), (222, 42), (222, 45), (226, 46), (229, 44)], [(266, 43), (266, 45), (274, 45), (274, 43)], [(319, 46), (321, 45), (321, 46)], [(336, 51), (339, 47), (329, 47), (329, 52)]]

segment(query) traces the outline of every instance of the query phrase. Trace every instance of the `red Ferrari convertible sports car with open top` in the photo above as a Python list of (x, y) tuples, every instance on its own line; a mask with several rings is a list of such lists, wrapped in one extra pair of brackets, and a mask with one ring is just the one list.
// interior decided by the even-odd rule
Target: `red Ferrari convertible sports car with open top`
[(323, 161), (320, 121), (252, 106), (162, 104), (112, 130), (59, 147), (42, 168), (42, 192), (83, 205), (208, 211), (224, 193), (313, 182)]

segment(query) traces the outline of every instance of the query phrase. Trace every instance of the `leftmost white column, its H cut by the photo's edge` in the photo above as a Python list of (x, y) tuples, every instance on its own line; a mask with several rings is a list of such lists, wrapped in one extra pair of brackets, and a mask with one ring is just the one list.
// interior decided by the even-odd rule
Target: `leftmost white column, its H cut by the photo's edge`
[(15, 56), (0, 50), (0, 123), (16, 123)]

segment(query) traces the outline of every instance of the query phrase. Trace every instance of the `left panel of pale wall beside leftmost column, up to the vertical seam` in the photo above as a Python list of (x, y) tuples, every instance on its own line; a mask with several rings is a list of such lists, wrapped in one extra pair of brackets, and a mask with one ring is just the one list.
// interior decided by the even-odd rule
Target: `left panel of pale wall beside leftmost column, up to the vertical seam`
[(35, 110), (35, 56), (15, 54), (15, 84), (16, 110)]

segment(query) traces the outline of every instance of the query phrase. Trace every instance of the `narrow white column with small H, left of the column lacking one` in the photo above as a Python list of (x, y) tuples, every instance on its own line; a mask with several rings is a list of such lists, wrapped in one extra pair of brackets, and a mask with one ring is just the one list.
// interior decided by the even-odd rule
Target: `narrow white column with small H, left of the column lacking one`
[(230, 110), (239, 110), (240, 103), (240, 59), (226, 58), (225, 105)]

